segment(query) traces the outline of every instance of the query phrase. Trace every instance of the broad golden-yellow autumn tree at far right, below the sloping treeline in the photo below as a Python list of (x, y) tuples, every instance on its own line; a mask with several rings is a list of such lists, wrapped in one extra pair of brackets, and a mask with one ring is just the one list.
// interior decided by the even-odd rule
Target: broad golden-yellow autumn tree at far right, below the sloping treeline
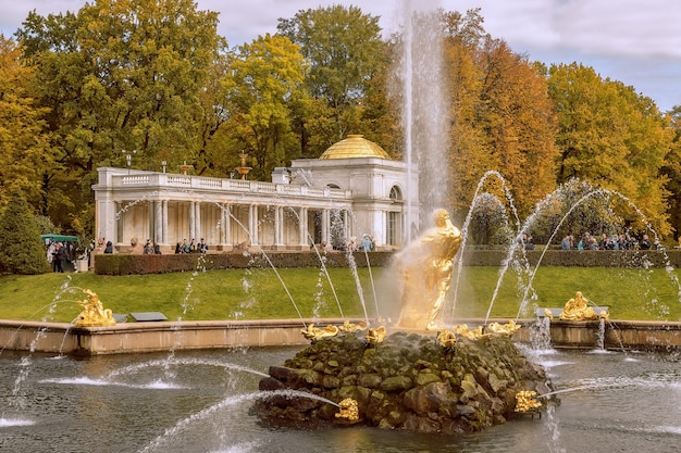
[(641, 232), (649, 223), (668, 235), (667, 178), (658, 176), (673, 133), (657, 106), (578, 63), (552, 65), (548, 85), (558, 116), (558, 183), (579, 178), (616, 192), (626, 198), (624, 225)]

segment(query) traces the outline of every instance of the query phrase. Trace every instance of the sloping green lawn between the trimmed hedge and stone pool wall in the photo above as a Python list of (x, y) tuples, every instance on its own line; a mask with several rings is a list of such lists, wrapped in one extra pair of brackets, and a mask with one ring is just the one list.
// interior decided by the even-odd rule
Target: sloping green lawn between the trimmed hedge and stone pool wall
[[(277, 276), (278, 274), (278, 276)], [(227, 269), (144, 276), (100, 276), (45, 274), (0, 276), (0, 318), (71, 322), (81, 312), (81, 291), (95, 291), (114, 313), (162, 312), (169, 319), (263, 319), (361, 317), (357, 284), (347, 268)], [(366, 268), (358, 269), (367, 312), (375, 313), (373, 287), (379, 294), (395, 288), (388, 273), (372, 268), (373, 285)], [(487, 313), (499, 269), (465, 267), (456, 291), (456, 315), (483, 317)], [(451, 292), (457, 275), (453, 278)], [(527, 279), (524, 280), (527, 281)], [(516, 317), (524, 290), (518, 289), (516, 273), (505, 275), (492, 304), (493, 317)], [(523, 287), (521, 287), (523, 288)], [(533, 306), (560, 307), (582, 291), (598, 305), (610, 305), (612, 319), (680, 320), (678, 273), (664, 269), (594, 267), (541, 267), (529, 292), (529, 314)], [(335, 297), (334, 297), (335, 291)], [(391, 297), (380, 297), (380, 306), (396, 306)], [(340, 309), (338, 309), (340, 305)], [(451, 311), (451, 304), (444, 313)], [(381, 313), (384, 314), (384, 313)], [(522, 315), (521, 315), (522, 317)]]

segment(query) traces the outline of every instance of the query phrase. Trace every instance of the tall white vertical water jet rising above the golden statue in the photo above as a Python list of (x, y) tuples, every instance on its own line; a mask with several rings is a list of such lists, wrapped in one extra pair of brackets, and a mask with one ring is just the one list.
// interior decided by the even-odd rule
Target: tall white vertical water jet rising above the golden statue
[[(405, 160), (407, 162), (406, 242), (413, 239), (414, 206), (431, 213), (449, 209), (447, 190), (448, 110), (443, 83), (443, 33), (438, 0), (401, 0), (401, 58), (397, 72), (403, 103)], [(419, 187), (411, 186), (411, 173), (419, 172)], [(417, 198), (418, 197), (418, 198)]]

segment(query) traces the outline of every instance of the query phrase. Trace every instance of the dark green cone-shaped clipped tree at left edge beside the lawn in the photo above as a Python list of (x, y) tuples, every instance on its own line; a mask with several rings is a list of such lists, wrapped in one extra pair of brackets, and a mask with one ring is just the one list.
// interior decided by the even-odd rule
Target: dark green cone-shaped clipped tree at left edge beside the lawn
[(48, 270), (35, 215), (17, 190), (0, 216), (0, 272), (34, 275)]

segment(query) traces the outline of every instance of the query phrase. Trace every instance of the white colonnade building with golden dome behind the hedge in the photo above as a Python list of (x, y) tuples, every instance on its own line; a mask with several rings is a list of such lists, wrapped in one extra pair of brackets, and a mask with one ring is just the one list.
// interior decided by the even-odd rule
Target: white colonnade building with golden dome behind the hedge
[[(272, 181), (98, 168), (92, 186), (98, 238), (127, 250), (150, 239), (164, 253), (203, 238), (210, 251), (340, 249), (371, 236), (399, 249), (418, 225), (418, 172), (376, 143), (351, 135), (319, 159), (275, 168)], [(410, 193), (411, 196), (407, 196)]]

